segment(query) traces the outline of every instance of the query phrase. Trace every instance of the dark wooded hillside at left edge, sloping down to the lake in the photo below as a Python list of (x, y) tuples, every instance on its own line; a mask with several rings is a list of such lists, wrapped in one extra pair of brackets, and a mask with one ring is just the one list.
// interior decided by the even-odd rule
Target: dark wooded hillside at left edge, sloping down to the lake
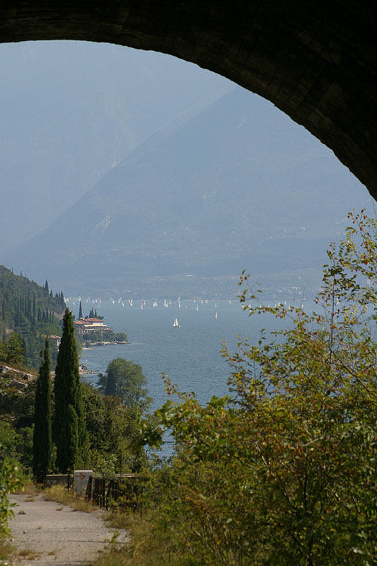
[(21, 335), (26, 366), (40, 365), (40, 349), (45, 336), (50, 340), (52, 363), (56, 360), (57, 341), (62, 335), (60, 320), (64, 315), (63, 293), (52, 294), (46, 281), (45, 287), (27, 277), (14, 275), (0, 265), (0, 352), (12, 333)]

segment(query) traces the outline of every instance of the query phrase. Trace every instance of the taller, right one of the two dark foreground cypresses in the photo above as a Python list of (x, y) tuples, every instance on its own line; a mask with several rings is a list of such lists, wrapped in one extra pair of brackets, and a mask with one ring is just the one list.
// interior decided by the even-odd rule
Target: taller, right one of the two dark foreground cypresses
[(54, 441), (57, 446), (57, 468), (66, 473), (82, 463), (86, 444), (79, 357), (74, 337), (72, 313), (66, 308), (63, 335), (55, 369)]

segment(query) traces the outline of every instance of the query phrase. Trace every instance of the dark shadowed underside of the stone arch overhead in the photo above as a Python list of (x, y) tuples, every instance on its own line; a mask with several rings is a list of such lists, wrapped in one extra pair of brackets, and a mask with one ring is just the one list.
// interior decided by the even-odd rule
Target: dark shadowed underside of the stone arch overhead
[(377, 3), (3, 0), (0, 41), (85, 40), (175, 55), (271, 100), (377, 198)]

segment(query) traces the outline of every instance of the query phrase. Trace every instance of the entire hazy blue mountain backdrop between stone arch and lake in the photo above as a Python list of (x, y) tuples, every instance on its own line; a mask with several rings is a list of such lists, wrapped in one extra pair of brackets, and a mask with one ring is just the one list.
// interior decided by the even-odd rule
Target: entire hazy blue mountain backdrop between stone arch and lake
[[(193, 273), (193, 291), (207, 293), (216, 284), (226, 287), (227, 277), (251, 265), (258, 266), (258, 275), (267, 274), (268, 285), (277, 274), (276, 285), (284, 277), (289, 285), (291, 272), (292, 281), (305, 279), (308, 269), (318, 278), (327, 244), (344, 231), (344, 215), (371, 200), (332, 151), (271, 103), (240, 87), (245, 96), (239, 104), (216, 102), (227, 100), (236, 85), (194, 64), (87, 42), (4, 44), (0, 60), (0, 262), (33, 279), (62, 282), (70, 292), (94, 291), (93, 277), (106, 289), (122, 289), (123, 282), (127, 289), (127, 280), (137, 289), (139, 277), (144, 293), (154, 277), (163, 294), (164, 285), (172, 292), (190, 290), (184, 278)], [(245, 105), (243, 114), (237, 105)], [(136, 177), (115, 197), (112, 178), (122, 187), (131, 171)], [(174, 191), (184, 203), (178, 208)], [(143, 192), (141, 206), (137, 197)], [(240, 206), (228, 206), (229, 198), (240, 199)], [(76, 207), (81, 212), (73, 220)], [(105, 226), (100, 240), (98, 229), (93, 232), (98, 214), (95, 222), (105, 223), (99, 224)], [(140, 218), (144, 224), (130, 229), (132, 219)], [(172, 233), (166, 243), (164, 230)], [(244, 252), (235, 231), (241, 239), (248, 235)], [(60, 252), (69, 233), (74, 240)], [(43, 249), (43, 238), (50, 247), (54, 242), (51, 252)], [(93, 246), (102, 255), (93, 255)], [(99, 273), (89, 268), (95, 262)], [(110, 274), (106, 282), (104, 272)], [(223, 279), (210, 281), (213, 275)]]

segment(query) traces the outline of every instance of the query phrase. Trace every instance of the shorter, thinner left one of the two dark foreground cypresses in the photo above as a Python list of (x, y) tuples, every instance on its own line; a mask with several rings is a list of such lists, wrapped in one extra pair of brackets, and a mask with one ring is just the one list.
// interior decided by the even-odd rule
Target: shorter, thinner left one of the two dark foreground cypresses
[(43, 483), (51, 467), (51, 381), (50, 352), (46, 338), (45, 352), (41, 352), (40, 370), (37, 379), (34, 405), (33, 433), (33, 475), (38, 483)]

